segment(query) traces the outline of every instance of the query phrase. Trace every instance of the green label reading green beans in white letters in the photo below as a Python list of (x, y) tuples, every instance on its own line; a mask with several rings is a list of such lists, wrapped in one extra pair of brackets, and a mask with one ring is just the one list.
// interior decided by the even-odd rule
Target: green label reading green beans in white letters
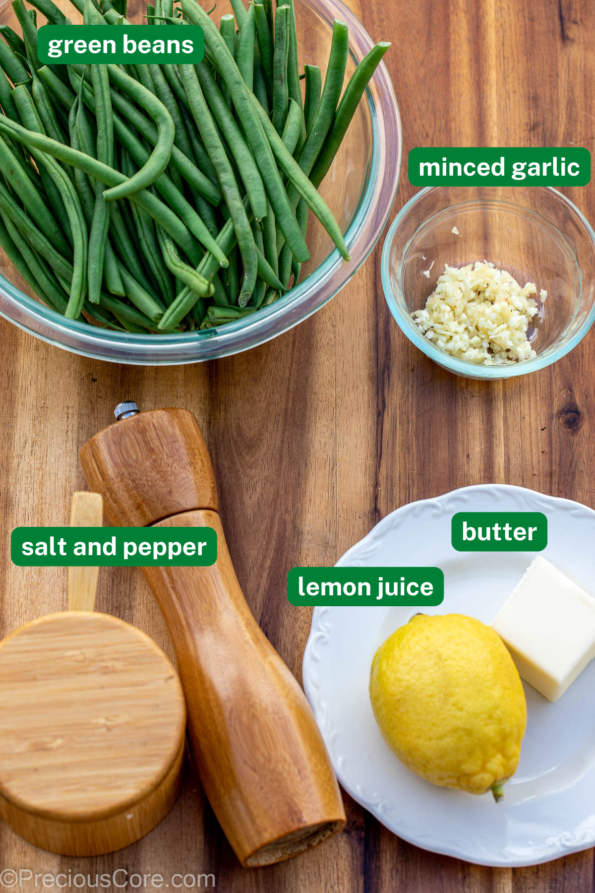
[(37, 55), (46, 65), (194, 65), (204, 58), (204, 31), (198, 25), (43, 25), (37, 31)]

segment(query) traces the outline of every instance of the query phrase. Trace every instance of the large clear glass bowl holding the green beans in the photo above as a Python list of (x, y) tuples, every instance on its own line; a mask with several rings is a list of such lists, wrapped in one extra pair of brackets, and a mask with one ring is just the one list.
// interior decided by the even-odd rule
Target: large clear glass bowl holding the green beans
[[(72, 21), (80, 21), (68, 0), (58, 0)], [(227, 2), (214, 13), (231, 12)], [(144, 7), (128, 4), (128, 18), (142, 21)], [(341, 0), (295, 0), (300, 64), (317, 64), (324, 72), (333, 21), (349, 25), (350, 60), (346, 77), (374, 42)], [(41, 16), (38, 23), (43, 22)], [(0, 9), (0, 23), (20, 30), (10, 3)], [(377, 39), (385, 34), (375, 35)], [(395, 53), (393, 48), (389, 53)], [(302, 280), (287, 296), (252, 316), (217, 329), (175, 335), (131, 335), (69, 321), (41, 305), (12, 264), (4, 258), (0, 270), (0, 314), (37, 338), (78, 354), (114, 363), (169, 365), (196, 363), (236, 354), (276, 338), (326, 304), (368, 257), (393, 206), (401, 169), (401, 118), (393, 84), (381, 63), (343, 141), (320, 192), (339, 221), (351, 254), (345, 263), (335, 246), (312, 220), (308, 234), (310, 261)]]

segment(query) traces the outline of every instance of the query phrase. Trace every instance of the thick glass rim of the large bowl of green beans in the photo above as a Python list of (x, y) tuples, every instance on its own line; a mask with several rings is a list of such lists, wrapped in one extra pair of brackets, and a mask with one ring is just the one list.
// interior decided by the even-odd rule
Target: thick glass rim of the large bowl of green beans
[[(374, 46), (362, 22), (351, 12), (343, 0), (302, 0), (330, 24), (335, 18), (347, 22), (350, 29), (349, 52), (351, 59), (361, 58)], [(7, 3), (0, 6), (0, 10)], [(62, 314), (24, 294), (20, 288), (0, 274), (0, 295), (14, 315), (0, 307), (0, 316), (13, 325), (29, 332), (36, 338), (71, 353), (100, 359), (106, 362), (138, 365), (178, 365), (198, 363), (221, 356), (240, 353), (254, 346), (277, 338), (278, 335), (306, 320), (324, 306), (351, 279), (366, 261), (388, 216), (393, 208), (399, 187), (402, 161), (402, 127), (399, 104), (393, 82), (384, 61), (375, 73), (375, 92), (382, 101), (375, 102), (369, 88), (366, 90), (368, 111), (371, 119), (371, 150), (369, 171), (351, 223), (344, 234), (350, 249), (351, 261), (345, 262), (338, 249), (333, 248), (326, 259), (310, 275), (292, 288), (287, 296), (274, 305), (265, 307), (252, 316), (227, 323), (226, 326), (198, 332), (162, 334), (136, 334), (103, 329), (76, 320), (66, 320)], [(384, 146), (379, 140), (384, 137)], [(390, 176), (385, 178), (388, 189), (380, 176), (379, 155), (392, 154)], [(375, 212), (378, 212), (379, 217)], [(366, 233), (366, 224), (373, 220), (374, 232)], [(368, 240), (362, 242), (366, 235)], [(356, 251), (351, 248), (356, 246)], [(317, 297), (317, 295), (320, 295)], [(277, 323), (277, 325), (276, 325)], [(249, 343), (245, 343), (248, 341)], [(211, 345), (211, 350), (209, 350)], [(206, 348), (206, 349), (205, 349)], [(129, 353), (132, 351), (132, 353)], [(173, 358), (169, 351), (175, 352)], [(110, 355), (114, 353), (114, 355)], [(148, 356), (150, 355), (150, 356)]]

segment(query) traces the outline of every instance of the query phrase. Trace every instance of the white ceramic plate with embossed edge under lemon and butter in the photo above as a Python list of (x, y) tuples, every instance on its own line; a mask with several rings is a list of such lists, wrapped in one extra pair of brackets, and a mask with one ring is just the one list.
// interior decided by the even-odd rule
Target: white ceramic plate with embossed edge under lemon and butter
[[(543, 555), (595, 595), (595, 512), (520, 487), (485, 485), (404, 505), (337, 563), (442, 568), (444, 601), (427, 613), (491, 622), (534, 553), (462, 553), (450, 545), (455, 512), (543, 512)], [(337, 776), (351, 797), (399, 837), (482, 865), (533, 865), (595, 844), (595, 661), (550, 704), (525, 685), (521, 760), (500, 804), (409, 772), (384, 743), (368, 698), (376, 648), (416, 607), (317, 607), (303, 684)]]

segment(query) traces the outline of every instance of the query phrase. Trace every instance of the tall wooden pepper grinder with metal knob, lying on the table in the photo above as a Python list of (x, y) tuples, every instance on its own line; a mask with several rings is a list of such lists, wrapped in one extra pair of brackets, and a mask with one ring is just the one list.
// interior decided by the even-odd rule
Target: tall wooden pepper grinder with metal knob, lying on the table
[(343, 801), (310, 705), (265, 637), (236, 578), (215, 477), (193, 413), (139, 413), (116, 421), (80, 452), (107, 522), (207, 526), (211, 567), (147, 567), (186, 694), (188, 737), (202, 786), (245, 866), (280, 862), (345, 823)]

